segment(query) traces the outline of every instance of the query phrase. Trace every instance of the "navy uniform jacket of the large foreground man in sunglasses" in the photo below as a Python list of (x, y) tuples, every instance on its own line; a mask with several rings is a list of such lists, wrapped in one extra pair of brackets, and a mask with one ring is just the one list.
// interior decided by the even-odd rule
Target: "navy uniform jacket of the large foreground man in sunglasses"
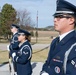
[(76, 74), (76, 46), (72, 48), (66, 65), (66, 74), (64, 74), (64, 56), (72, 44), (76, 43), (76, 32), (73, 31), (66, 35), (55, 47), (57, 38), (50, 46), (50, 51), (46, 62), (43, 65), (42, 72), (49, 75), (75, 75)]

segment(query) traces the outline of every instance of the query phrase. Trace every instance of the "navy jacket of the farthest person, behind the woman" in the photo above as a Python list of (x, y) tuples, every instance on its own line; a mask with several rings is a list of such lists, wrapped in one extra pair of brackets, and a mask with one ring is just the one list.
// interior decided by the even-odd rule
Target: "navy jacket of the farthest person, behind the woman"
[(18, 41), (18, 33), (15, 33), (12, 36), (12, 39), (10, 41), (9, 49), (10, 49), (10, 56), (12, 56), (13, 52), (17, 52), (19, 48), (19, 41)]

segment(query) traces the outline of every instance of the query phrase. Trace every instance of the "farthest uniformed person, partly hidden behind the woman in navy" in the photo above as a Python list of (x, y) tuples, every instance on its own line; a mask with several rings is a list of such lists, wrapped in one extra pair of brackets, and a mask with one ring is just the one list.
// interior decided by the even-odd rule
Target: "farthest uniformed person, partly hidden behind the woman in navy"
[[(13, 52), (17, 52), (18, 48), (19, 48), (19, 41), (18, 41), (18, 30), (19, 30), (19, 26), (12, 24), (11, 25), (11, 32), (13, 33), (12, 39), (10, 41), (10, 45), (9, 45), (9, 50), (10, 50), (10, 54), (9, 54), (9, 59), (10, 57), (12, 57), (12, 53)], [(14, 75), (16, 75), (16, 63), (13, 62), (13, 68), (14, 68)]]

